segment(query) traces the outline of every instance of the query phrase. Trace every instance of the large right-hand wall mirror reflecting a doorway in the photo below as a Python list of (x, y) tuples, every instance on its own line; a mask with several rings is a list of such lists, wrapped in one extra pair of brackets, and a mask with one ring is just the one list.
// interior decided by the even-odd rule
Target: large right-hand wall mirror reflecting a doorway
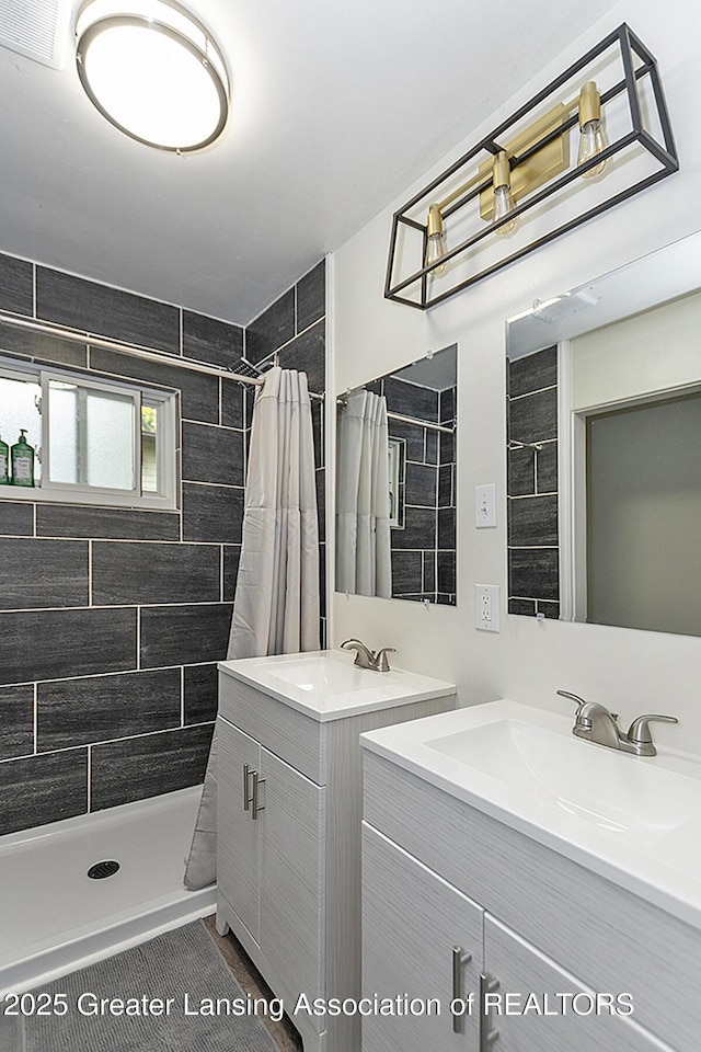
[(701, 233), (507, 323), (509, 613), (701, 636)]

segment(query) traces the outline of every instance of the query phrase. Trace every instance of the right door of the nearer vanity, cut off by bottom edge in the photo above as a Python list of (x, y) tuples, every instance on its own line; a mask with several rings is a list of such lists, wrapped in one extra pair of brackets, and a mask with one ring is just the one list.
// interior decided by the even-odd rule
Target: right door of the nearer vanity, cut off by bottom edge
[(484, 963), (498, 980), (487, 1022), (491, 1031), (498, 1030), (493, 1052), (670, 1052), (634, 1022), (634, 1015), (607, 1008), (604, 995), (612, 995), (614, 1010), (617, 995), (625, 991), (599, 991), (597, 1005), (595, 992), (490, 914)]

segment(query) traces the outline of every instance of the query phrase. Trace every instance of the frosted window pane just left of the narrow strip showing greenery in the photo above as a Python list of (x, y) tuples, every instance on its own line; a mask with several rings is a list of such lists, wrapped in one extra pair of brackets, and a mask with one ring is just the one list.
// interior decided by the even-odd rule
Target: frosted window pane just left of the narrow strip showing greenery
[(88, 391), (84, 482), (114, 490), (134, 489), (134, 399)]

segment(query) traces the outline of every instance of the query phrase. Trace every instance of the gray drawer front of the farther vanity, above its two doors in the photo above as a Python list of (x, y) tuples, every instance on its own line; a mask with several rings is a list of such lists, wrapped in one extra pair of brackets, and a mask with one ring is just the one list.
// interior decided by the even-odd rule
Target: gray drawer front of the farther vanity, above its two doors
[(318, 786), (326, 784), (323, 723), (223, 672), (219, 673), (219, 716)]

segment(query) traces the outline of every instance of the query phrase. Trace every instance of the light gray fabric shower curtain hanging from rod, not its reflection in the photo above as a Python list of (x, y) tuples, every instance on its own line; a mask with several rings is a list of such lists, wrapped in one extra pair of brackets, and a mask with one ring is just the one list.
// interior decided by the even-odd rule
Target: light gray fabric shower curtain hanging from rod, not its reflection
[[(307, 375), (277, 366), (265, 374), (253, 409), (243, 542), (227, 658), (319, 649), (319, 525), (311, 402)], [(217, 877), (217, 736), (185, 887)]]

